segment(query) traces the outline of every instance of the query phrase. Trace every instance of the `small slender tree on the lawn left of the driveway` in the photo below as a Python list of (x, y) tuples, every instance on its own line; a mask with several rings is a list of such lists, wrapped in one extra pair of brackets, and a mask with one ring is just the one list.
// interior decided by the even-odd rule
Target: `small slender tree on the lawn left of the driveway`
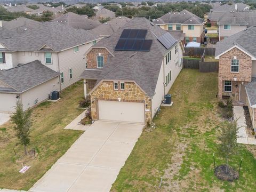
[(11, 116), (11, 121), (15, 124), (14, 129), (17, 132), (16, 136), (21, 145), (24, 146), (24, 153), (27, 155), (26, 147), (30, 142), (29, 129), (31, 123), (31, 110), (23, 111), (22, 104), (18, 101), (15, 113)]

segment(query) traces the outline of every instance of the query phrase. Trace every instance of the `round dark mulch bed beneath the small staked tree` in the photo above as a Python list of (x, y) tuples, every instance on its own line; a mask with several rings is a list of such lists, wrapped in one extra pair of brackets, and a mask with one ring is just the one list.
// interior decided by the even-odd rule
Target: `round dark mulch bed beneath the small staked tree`
[(214, 172), (215, 176), (223, 181), (234, 181), (239, 178), (239, 173), (233, 167), (228, 166), (228, 172), (226, 173), (226, 165), (220, 165), (216, 167)]

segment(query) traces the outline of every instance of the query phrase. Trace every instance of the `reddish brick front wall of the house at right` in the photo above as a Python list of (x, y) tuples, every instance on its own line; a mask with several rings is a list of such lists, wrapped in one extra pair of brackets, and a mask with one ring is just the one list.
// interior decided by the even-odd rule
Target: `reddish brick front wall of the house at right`
[[(231, 59), (236, 56), (239, 60), (239, 72), (231, 72)], [(236, 78), (236, 81), (235, 81)], [(247, 84), (252, 79), (252, 59), (249, 55), (236, 47), (220, 56), (219, 76), (218, 76), (218, 95), (229, 95), (235, 100), (239, 99), (239, 84)], [(224, 92), (224, 81), (232, 81), (232, 92)]]

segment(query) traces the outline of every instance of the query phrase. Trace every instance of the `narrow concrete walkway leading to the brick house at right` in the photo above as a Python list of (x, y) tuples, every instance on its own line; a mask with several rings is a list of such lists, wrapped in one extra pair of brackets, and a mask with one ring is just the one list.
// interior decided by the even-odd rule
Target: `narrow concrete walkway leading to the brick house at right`
[(248, 138), (246, 133), (246, 122), (244, 117), (244, 109), (241, 106), (234, 106), (234, 119), (237, 120), (237, 126), (240, 127), (237, 133), (237, 143), (256, 145), (256, 139)]

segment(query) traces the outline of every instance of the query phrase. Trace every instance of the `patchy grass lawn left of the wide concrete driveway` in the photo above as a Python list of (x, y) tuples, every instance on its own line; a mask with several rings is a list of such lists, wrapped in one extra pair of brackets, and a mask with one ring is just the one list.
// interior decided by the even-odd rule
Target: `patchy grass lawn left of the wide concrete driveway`
[[(60, 158), (82, 131), (63, 128), (82, 113), (77, 109), (83, 98), (83, 83), (68, 87), (60, 94), (58, 102), (43, 102), (33, 109), (31, 143), (28, 149), (35, 148), (36, 158), (21, 158), (23, 147), (16, 145), (17, 138), (10, 122), (0, 126), (0, 188), (28, 190)], [(19, 153), (15, 156), (14, 151)], [(31, 168), (19, 173), (21, 162)]]

